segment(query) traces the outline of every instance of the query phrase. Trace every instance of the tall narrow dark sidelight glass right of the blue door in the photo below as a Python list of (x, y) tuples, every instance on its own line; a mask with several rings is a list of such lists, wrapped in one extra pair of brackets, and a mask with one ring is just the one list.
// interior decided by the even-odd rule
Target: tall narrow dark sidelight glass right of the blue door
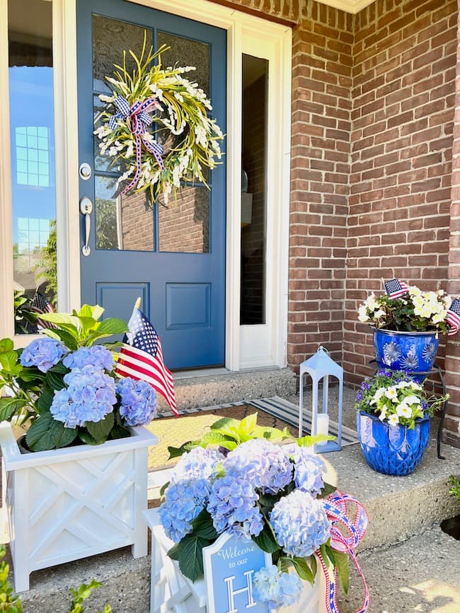
[(265, 323), (268, 61), (243, 55), (241, 325)]

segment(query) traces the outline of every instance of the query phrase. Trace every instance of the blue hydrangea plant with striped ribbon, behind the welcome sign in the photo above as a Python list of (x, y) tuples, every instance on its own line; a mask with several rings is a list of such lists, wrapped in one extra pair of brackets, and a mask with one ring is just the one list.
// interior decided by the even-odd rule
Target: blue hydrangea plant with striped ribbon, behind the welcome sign
[[(352, 549), (364, 535), (367, 515), (355, 499), (324, 481), (326, 466), (311, 445), (326, 437), (289, 442), (284, 440), (288, 436), (257, 426), (255, 414), (242, 421), (219, 420), (202, 440), (172, 450), (172, 455), (183, 455), (163, 488), (159, 508), (171, 539), (168, 556), (195, 581), (203, 573), (203, 549), (223, 533), (235, 535), (243, 551), (245, 543), (252, 543), (272, 556), (272, 565), (253, 576), (255, 601), (283, 612), (307, 610), (311, 602), (316, 608), (308, 610), (330, 611), (324, 607), (329, 597), (335, 601), (337, 573), (347, 591), (346, 553), (355, 559)], [(355, 505), (351, 520), (346, 500)], [(327, 597), (315, 591), (320, 564)], [(368, 604), (366, 597), (361, 610)]]

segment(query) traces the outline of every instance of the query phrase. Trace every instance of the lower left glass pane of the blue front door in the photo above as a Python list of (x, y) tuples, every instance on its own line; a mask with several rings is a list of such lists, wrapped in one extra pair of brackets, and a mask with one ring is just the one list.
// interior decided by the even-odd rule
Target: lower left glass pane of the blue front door
[(152, 251), (154, 218), (146, 192), (119, 196), (115, 177), (96, 177), (94, 187), (96, 248)]

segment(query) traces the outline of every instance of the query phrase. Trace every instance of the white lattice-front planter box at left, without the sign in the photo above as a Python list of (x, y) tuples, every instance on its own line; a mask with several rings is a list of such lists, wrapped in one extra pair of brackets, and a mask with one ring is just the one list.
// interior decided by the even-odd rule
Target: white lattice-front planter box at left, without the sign
[(8, 515), (15, 591), (29, 588), (39, 568), (132, 545), (147, 554), (146, 428), (103, 445), (21, 454), (7, 422), (0, 424), (2, 501)]

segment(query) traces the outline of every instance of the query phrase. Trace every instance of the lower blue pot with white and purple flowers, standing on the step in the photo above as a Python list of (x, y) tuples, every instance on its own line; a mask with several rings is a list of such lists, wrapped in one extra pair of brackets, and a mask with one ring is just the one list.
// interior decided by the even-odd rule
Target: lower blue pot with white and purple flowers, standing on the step
[(378, 370), (356, 395), (357, 432), (367, 464), (377, 472), (406, 475), (422, 460), (430, 416), (448, 396), (427, 397), (402, 370)]

